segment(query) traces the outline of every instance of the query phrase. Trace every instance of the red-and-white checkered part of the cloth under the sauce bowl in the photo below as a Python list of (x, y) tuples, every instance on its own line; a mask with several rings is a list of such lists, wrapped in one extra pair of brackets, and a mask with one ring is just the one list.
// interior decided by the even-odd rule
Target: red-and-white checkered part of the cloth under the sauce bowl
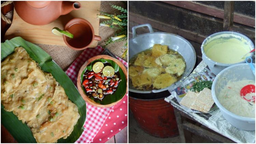
[[(100, 55), (103, 51), (104, 51), (104, 49), (100, 46), (97, 46), (96, 48), (86, 48), (82, 52), (82, 54), (79, 57), (77, 57), (76, 60), (71, 64), (71, 66), (67, 69), (66, 74), (70, 77), (70, 79), (73, 81), (73, 83), (75, 85), (76, 85), (76, 80), (77, 80), (77, 74), (78, 74), (80, 68), (82, 67), (82, 65), (84, 64), (84, 62), (91, 57)], [(117, 59), (120, 60), (127, 67), (126, 61), (124, 61), (123, 59), (121, 59), (119, 57), (117, 57)], [(127, 97), (127, 95), (125, 97)], [(122, 103), (121, 102), (118, 103), (117, 107), (119, 107), (120, 104), (122, 104)], [(93, 142), (93, 139), (95, 138), (95, 136), (97, 135), (97, 133), (99, 132), (99, 130), (101, 129), (103, 124), (105, 123), (106, 118), (109, 116), (111, 111), (114, 111), (113, 110), (114, 106), (107, 107), (107, 108), (99, 108), (99, 107), (95, 107), (93, 105), (86, 103), (87, 115), (86, 115), (86, 120), (85, 120), (85, 124), (84, 124), (84, 131), (83, 131), (82, 135), (80, 136), (80, 138), (76, 141), (76, 143)], [(127, 98), (126, 98), (126, 103), (123, 102), (123, 106), (127, 107)], [(127, 108), (126, 108), (126, 113), (127, 113)], [(127, 114), (125, 114), (125, 115), (126, 115), (126, 120), (123, 120), (122, 124), (125, 124), (125, 126), (127, 126)], [(124, 128), (124, 126), (122, 126), (122, 129), (123, 128)], [(113, 133), (110, 133), (110, 135), (112, 137)]]

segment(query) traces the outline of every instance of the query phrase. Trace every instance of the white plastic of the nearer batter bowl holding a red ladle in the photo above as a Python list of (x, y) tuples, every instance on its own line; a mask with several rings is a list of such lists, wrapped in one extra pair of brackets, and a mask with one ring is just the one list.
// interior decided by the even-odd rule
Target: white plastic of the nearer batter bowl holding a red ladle
[[(255, 64), (254, 64), (255, 65)], [(221, 78), (220, 78), (221, 77)], [(212, 84), (212, 97), (215, 104), (221, 110), (223, 117), (233, 126), (242, 130), (255, 130), (255, 118), (242, 117), (229, 112), (218, 101), (221, 87), (225, 86), (228, 81), (255, 80), (251, 68), (246, 63), (235, 64), (222, 70), (215, 78)]]

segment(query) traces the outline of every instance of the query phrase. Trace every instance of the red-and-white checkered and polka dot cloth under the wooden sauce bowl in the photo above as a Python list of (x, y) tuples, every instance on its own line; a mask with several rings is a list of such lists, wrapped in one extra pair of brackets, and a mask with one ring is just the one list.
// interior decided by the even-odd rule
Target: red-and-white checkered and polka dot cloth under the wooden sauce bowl
[[(66, 74), (76, 85), (77, 74), (86, 60), (100, 55), (104, 49), (101, 46), (86, 48), (67, 69)], [(117, 57), (126, 67), (127, 62)], [(116, 105), (99, 108), (86, 103), (87, 115), (84, 131), (76, 143), (105, 143), (112, 136), (127, 126), (127, 94)], [(95, 123), (97, 122), (97, 123)]]

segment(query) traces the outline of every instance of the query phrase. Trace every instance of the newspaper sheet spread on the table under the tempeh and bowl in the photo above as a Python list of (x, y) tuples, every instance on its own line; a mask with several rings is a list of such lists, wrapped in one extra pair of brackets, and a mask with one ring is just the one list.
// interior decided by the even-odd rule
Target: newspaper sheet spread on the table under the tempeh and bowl
[[(253, 59), (255, 61), (255, 56)], [(255, 143), (255, 131), (240, 130), (232, 126), (222, 116), (221, 111), (216, 109), (216, 106), (213, 106), (211, 111), (205, 114), (180, 105), (182, 97), (185, 96), (188, 90), (193, 90), (195, 82), (213, 81), (214, 78), (215, 75), (211, 73), (209, 67), (202, 61), (184, 81), (176, 83), (172, 88), (171, 96), (165, 98), (165, 101), (171, 103), (174, 107), (188, 114), (204, 126), (226, 136), (234, 142)]]

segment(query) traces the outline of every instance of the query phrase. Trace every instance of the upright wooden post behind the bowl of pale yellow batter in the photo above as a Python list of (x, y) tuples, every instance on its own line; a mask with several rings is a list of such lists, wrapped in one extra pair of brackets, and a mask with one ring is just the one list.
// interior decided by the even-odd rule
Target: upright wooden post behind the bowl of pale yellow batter
[(233, 26), (234, 19), (234, 1), (225, 1), (224, 3), (224, 19), (223, 19), (223, 30), (230, 31)]

